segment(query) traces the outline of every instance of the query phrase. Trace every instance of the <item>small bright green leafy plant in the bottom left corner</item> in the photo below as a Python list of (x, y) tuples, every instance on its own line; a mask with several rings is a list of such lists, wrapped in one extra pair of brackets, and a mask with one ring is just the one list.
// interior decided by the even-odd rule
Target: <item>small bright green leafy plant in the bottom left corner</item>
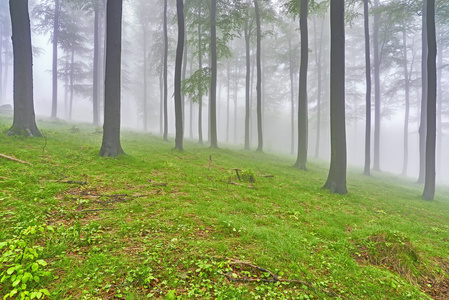
[(0, 242), (0, 283), (4, 286), (3, 299), (44, 299), (49, 296), (47, 289), (39, 288), (41, 278), (49, 278), (47, 262), (39, 259), (43, 247), (32, 245), (33, 238), (51, 226), (30, 226), (19, 236)]

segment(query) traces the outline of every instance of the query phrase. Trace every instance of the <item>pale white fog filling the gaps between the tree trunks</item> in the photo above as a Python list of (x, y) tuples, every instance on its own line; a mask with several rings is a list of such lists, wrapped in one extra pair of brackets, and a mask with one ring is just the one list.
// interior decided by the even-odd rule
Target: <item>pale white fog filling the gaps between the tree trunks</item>
[[(35, 5), (39, 5), (41, 1), (36, 0), (30, 6), (33, 11)], [(146, 3), (145, 3), (146, 2)], [(169, 65), (168, 65), (168, 123), (170, 141), (174, 143), (175, 117), (174, 117), (174, 101), (173, 101), (173, 76), (174, 76), (174, 52), (176, 48), (176, 15), (173, 7), (173, 1), (169, 1)], [(388, 1), (385, 1), (388, 3)], [(149, 59), (149, 72), (147, 77), (148, 83), (148, 133), (159, 135), (160, 128), (160, 67), (162, 64), (160, 43), (162, 39), (162, 1), (124, 1), (123, 15), (123, 42), (122, 42), (122, 128), (143, 131), (142, 102), (143, 102), (143, 46), (142, 36), (143, 30), (141, 26), (142, 18), (147, 22), (145, 27), (147, 30), (148, 47), (146, 55)], [(281, 153), (290, 155), (292, 160), (296, 157), (296, 140), (297, 140), (297, 101), (298, 101), (298, 81), (299, 81), (299, 30), (298, 20), (292, 16), (286, 15), (283, 10), (279, 9), (278, 2), (272, 2), (271, 8), (264, 7), (268, 13), (273, 13), (276, 21), (272, 21), (268, 17), (263, 20), (262, 30), (267, 34), (262, 41), (262, 60), (263, 60), (263, 132), (264, 132), (264, 151), (271, 153)], [(139, 15), (139, 10), (145, 7), (152, 9), (145, 10), (145, 16)], [(361, 8), (355, 8), (361, 13)], [(141, 13), (141, 12), (140, 12)], [(93, 24), (92, 15), (83, 17), (83, 22)], [(329, 133), (329, 16), (324, 14), (323, 17), (311, 16), (309, 18), (309, 70), (308, 70), (308, 100), (309, 100), (309, 146), (308, 156), (310, 161), (322, 160), (329, 161), (330, 158), (330, 133)], [(31, 15), (32, 27), (36, 28), (37, 18)], [(101, 19), (104, 23), (104, 18)], [(189, 22), (189, 21), (187, 21)], [(410, 41), (408, 48), (409, 66), (411, 70), (411, 106), (409, 121), (409, 159), (407, 176), (411, 180), (416, 180), (418, 176), (418, 128), (419, 128), (419, 112), (420, 112), (420, 70), (421, 70), (421, 31), (418, 26), (420, 17), (414, 16), (409, 20), (416, 27), (408, 33)], [(371, 20), (372, 26), (372, 20)], [(381, 25), (383, 26), (383, 25)], [(84, 46), (87, 49), (82, 54), (76, 54), (75, 60), (84, 63), (86, 70), (90, 72), (93, 57), (93, 42), (90, 25), (86, 29), (86, 41)], [(189, 30), (193, 30), (190, 27)], [(384, 28), (384, 27), (382, 27)], [(382, 28), (380, 29), (382, 32)], [(386, 27), (385, 27), (386, 28)], [(385, 29), (384, 28), (384, 29)], [(386, 30), (386, 29), (385, 29)], [(437, 31), (443, 32), (446, 28), (437, 25)], [(390, 59), (381, 67), (381, 101), (382, 101), (382, 121), (381, 121), (381, 139), (380, 139), (380, 166), (383, 172), (397, 174), (402, 172), (403, 168), (403, 140), (404, 140), (404, 90), (401, 84), (401, 64), (398, 63), (402, 59), (401, 41), (399, 33), (391, 33), (389, 39), (383, 41), (385, 45), (385, 56)], [(232, 53), (229, 58), (221, 58), (219, 61), (218, 88), (217, 88), (217, 118), (218, 118), (218, 139), (219, 146), (223, 148), (243, 149), (244, 144), (244, 117), (245, 117), (245, 45), (242, 31), (236, 33), (236, 37), (227, 45)], [(386, 35), (385, 35), (386, 36)], [(104, 35), (103, 35), (104, 37)], [(194, 40), (194, 31), (188, 31), (188, 38)], [(364, 143), (365, 143), (365, 65), (364, 65), (364, 41), (363, 41), (363, 15), (358, 15), (352, 24), (348, 24), (346, 28), (346, 137), (348, 149), (348, 164), (362, 173), (364, 163)], [(35, 111), (39, 119), (48, 118), (51, 112), (52, 99), (52, 32), (45, 34), (36, 30), (32, 32), (33, 47), (37, 50), (34, 52), (34, 103)], [(90, 40), (89, 40), (90, 39)], [(289, 61), (288, 61), (288, 40), (291, 40), (294, 52), (294, 140), (291, 140), (291, 98), (290, 98), (290, 78), (289, 78)], [(4, 42), (10, 40), (5, 39)], [(104, 44), (104, 41), (101, 42)], [(437, 139), (441, 140), (441, 149), (437, 153), (437, 182), (440, 184), (449, 184), (449, 157), (442, 155), (448, 153), (449, 139), (447, 137), (448, 111), (447, 105), (447, 87), (448, 87), (448, 70), (447, 70), (447, 53), (446, 41), (441, 41), (439, 47), (442, 51), (439, 55), (443, 55), (441, 84), (443, 89), (438, 93), (442, 96), (442, 124), (446, 126), (442, 130), (442, 135), (438, 135)], [(198, 68), (198, 58), (195, 51), (192, 50), (194, 42), (188, 43), (188, 62), (187, 77), (195, 72)], [(4, 46), (6, 47), (6, 46)], [(9, 46), (10, 47), (10, 46)], [(372, 44), (371, 44), (372, 47)], [(319, 151), (317, 152), (317, 98), (318, 98), (318, 67), (317, 57), (319, 48), (321, 49), (321, 122), (320, 122), (320, 139)], [(101, 47), (103, 53), (104, 47)], [(192, 55), (193, 53), (193, 55)], [(60, 57), (64, 55), (64, 50), (60, 48)], [(396, 57), (394, 57), (396, 56)], [(207, 55), (204, 57), (205, 65), (207, 65)], [(387, 60), (385, 58), (385, 60)], [(396, 58), (396, 60), (394, 59)], [(5, 61), (5, 58), (4, 62)], [(0, 104), (12, 105), (12, 65), (9, 61), (9, 70), (2, 70), (3, 77), (8, 78), (3, 86), (4, 97)], [(60, 62), (60, 67), (62, 62)], [(228, 80), (229, 65), (229, 80)], [(255, 84), (255, 39), (251, 41), (251, 149), (257, 147), (257, 124), (256, 124), (256, 84)], [(62, 72), (62, 71), (61, 71)], [(57, 117), (66, 119), (70, 122), (86, 122), (92, 123), (92, 97), (91, 83), (87, 76), (86, 79), (80, 79), (79, 85), (83, 88), (83, 92), (75, 93), (73, 98), (73, 112), (71, 119), (68, 119), (67, 105), (67, 89), (63, 79), (58, 82), (58, 111)], [(86, 92), (87, 90), (87, 92)], [(229, 94), (229, 115), (228, 115), (228, 94)], [(372, 101), (374, 105), (374, 88)], [(208, 136), (208, 96), (203, 99), (203, 135), (207, 141)], [(102, 104), (101, 104), (101, 107)], [(444, 109), (446, 108), (446, 109)], [(374, 114), (374, 106), (372, 108)], [(102, 112), (102, 109), (101, 109)], [(235, 114), (236, 112), (236, 114)], [(198, 104), (192, 103), (188, 97), (185, 97), (184, 107), (184, 137), (187, 140), (198, 139)], [(229, 127), (227, 126), (227, 118), (229, 117)], [(374, 117), (373, 125), (374, 129)], [(373, 138), (374, 132), (371, 133)], [(292, 153), (293, 144), (293, 153)], [(373, 146), (373, 142), (371, 145)], [(126, 151), (126, 145), (124, 145)], [(186, 151), (189, 151), (188, 145)], [(317, 154), (317, 155), (316, 155)], [(373, 150), (371, 150), (373, 154)], [(372, 161), (372, 159), (371, 159)], [(375, 173), (374, 173), (375, 174)]]

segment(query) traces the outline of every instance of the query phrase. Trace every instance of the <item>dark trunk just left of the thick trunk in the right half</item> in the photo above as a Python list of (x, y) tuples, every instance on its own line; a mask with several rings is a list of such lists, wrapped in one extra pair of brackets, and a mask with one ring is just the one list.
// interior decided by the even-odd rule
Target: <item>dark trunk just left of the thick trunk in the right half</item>
[(307, 171), (308, 147), (308, 107), (307, 107), (307, 67), (309, 64), (309, 35), (307, 29), (307, 0), (301, 0), (299, 28), (301, 30), (301, 66), (299, 71), (298, 99), (298, 156), (295, 167)]

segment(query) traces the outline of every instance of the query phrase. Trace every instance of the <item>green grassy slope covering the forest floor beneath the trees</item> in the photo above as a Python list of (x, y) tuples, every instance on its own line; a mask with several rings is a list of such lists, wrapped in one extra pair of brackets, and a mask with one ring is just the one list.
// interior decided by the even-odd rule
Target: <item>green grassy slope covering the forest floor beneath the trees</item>
[[(45, 140), (6, 136), (11, 123), (0, 117), (0, 153), (33, 165), (0, 158), (0, 243), (38, 247), (48, 263), (39, 270), (51, 272), (25, 290), (51, 299), (447, 297), (446, 187), (425, 202), (409, 180), (355, 169), (349, 194), (333, 195), (320, 189), (322, 162), (304, 172), (291, 157), (194, 142), (179, 152), (136, 132), (122, 134), (126, 156), (101, 158), (94, 127), (41, 120)], [(51, 228), (23, 234), (42, 225)], [(5, 279), (0, 296), (12, 289)]]

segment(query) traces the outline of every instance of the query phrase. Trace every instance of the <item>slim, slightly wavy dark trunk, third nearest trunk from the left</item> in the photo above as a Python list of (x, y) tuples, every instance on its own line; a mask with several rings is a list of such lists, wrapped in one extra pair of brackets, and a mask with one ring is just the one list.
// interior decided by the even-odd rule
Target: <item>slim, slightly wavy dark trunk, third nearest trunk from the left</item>
[(175, 62), (175, 124), (176, 137), (175, 148), (181, 151), (184, 139), (184, 122), (182, 116), (182, 96), (181, 96), (181, 76), (182, 76), (182, 56), (184, 53), (184, 3), (182, 0), (176, 0), (176, 10), (178, 13), (178, 47), (176, 48)]

